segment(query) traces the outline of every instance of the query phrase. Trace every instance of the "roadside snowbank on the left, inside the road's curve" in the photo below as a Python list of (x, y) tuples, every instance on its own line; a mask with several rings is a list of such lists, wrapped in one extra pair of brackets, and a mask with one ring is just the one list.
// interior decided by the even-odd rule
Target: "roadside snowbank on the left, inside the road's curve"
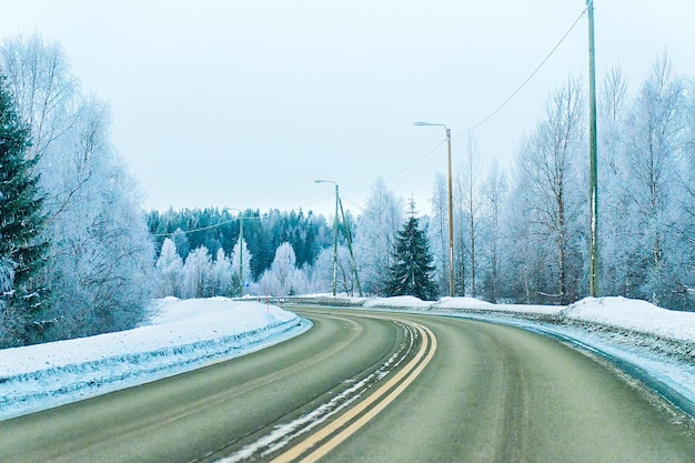
[(0, 350), (0, 420), (231, 359), (296, 335), (292, 312), (224, 298), (157, 301), (152, 324)]

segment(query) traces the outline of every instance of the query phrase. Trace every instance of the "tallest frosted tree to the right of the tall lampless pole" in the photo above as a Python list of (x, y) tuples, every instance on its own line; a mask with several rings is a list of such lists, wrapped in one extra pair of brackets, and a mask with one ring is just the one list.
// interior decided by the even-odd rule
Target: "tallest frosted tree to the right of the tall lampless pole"
[(685, 85), (674, 78), (667, 57), (654, 66), (628, 117), (626, 138), (629, 188), (624, 190), (632, 234), (629, 278), (634, 296), (662, 304), (674, 289), (677, 262), (676, 198), (678, 160), (686, 127)]

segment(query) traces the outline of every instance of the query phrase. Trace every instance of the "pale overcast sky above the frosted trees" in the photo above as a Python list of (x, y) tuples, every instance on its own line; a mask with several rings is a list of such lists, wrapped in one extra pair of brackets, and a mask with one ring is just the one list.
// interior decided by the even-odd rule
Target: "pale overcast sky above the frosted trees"
[[(145, 208), (355, 213), (379, 178), (430, 212), (454, 137), (494, 111), (585, 9), (583, 0), (0, 1), (0, 31), (62, 43), (85, 92), (109, 101), (113, 142)], [(596, 0), (597, 79), (635, 90), (667, 50), (695, 77), (695, 1)], [(584, 16), (534, 79), (475, 131), (511, 167), (548, 92), (587, 77)], [(453, 141), (454, 162), (465, 137)], [(400, 173), (399, 173), (400, 172)], [(395, 177), (394, 177), (395, 175)]]

